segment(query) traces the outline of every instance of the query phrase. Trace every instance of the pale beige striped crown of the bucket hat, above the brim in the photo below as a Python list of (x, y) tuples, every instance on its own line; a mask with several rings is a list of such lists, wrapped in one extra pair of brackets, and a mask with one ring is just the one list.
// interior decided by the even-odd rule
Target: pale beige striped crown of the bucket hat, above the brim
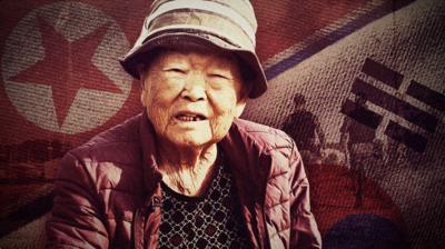
[(255, 50), (257, 26), (248, 0), (155, 0), (141, 37), (168, 30), (195, 30)]

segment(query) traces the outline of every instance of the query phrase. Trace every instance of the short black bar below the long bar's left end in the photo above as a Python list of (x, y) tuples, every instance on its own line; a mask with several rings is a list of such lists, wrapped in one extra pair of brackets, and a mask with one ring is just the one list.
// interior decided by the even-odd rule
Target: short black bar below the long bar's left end
[(357, 108), (357, 104), (350, 100), (346, 100), (342, 108), (342, 113), (349, 116), (359, 123), (363, 123), (373, 129), (377, 129), (383, 117), (372, 110)]

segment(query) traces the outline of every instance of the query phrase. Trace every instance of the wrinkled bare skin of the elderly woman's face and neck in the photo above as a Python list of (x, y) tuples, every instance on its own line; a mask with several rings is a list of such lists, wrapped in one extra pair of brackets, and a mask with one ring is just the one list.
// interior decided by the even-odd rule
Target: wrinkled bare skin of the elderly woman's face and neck
[(142, 106), (154, 124), (162, 180), (200, 195), (217, 158), (216, 143), (246, 106), (238, 61), (212, 51), (162, 50), (141, 71)]

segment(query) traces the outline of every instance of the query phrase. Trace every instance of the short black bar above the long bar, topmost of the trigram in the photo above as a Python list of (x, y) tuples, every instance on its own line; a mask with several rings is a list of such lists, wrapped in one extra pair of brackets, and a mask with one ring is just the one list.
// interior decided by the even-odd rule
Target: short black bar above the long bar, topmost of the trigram
[(387, 68), (384, 64), (380, 64), (369, 58), (366, 58), (365, 64), (362, 68), (362, 71), (385, 84), (398, 89), (402, 84), (404, 76), (400, 73)]

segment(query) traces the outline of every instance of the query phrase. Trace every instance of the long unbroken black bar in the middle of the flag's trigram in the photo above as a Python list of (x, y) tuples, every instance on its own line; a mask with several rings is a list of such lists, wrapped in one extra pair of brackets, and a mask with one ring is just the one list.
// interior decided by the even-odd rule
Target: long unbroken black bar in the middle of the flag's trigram
[(379, 106), (404, 119), (413, 122), (428, 131), (434, 131), (437, 127), (437, 118), (390, 96), (378, 88), (375, 88), (360, 79), (355, 79), (352, 91), (354, 93), (364, 93), (370, 102)]

